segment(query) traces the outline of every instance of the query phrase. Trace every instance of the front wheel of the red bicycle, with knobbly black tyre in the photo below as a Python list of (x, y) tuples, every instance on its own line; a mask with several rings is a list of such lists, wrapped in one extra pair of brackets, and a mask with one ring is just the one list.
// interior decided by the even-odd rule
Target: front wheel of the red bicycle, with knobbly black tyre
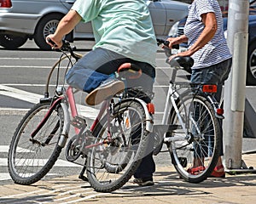
[[(20, 121), (9, 145), (8, 167), (16, 184), (33, 184), (43, 178), (61, 153), (58, 140), (63, 127), (63, 110), (57, 105), (45, 122), (50, 103), (37, 104)], [(33, 131), (43, 125), (32, 137)]]

